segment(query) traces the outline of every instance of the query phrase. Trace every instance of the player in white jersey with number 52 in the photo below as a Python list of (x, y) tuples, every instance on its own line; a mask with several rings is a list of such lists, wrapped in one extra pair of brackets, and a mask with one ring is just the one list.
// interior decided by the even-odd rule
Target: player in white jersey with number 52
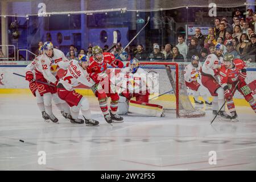
[[(39, 57), (38, 62), (36, 63), (36, 80), (56, 85), (59, 80), (57, 77), (57, 71), (59, 71), (61, 67), (69, 64), (69, 60), (64, 56), (62, 51), (53, 48), (53, 44), (51, 42), (45, 42), (43, 49), (44, 53)], [(49, 119), (51, 119), (52, 122), (58, 121), (52, 113), (52, 99), (59, 110), (64, 111), (61, 114), (67, 118), (68, 114), (70, 114), (69, 106), (65, 101), (61, 100), (57, 96), (56, 86), (49, 86), (42, 82), (36, 81), (36, 86), (38, 87), (40, 96), (43, 96), (44, 107), (46, 108), (46, 113), (48, 114)]]

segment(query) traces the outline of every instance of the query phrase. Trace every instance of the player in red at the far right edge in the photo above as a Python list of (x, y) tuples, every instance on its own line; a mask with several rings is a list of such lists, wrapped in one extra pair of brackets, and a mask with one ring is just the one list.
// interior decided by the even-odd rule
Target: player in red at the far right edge
[[(220, 77), (224, 88), (226, 105), (230, 111), (233, 122), (238, 122), (237, 113), (233, 102), (233, 95), (238, 90), (256, 113), (256, 102), (251, 94), (249, 86), (245, 82), (246, 64), (241, 59), (234, 59), (233, 55), (224, 56), (224, 64), (221, 65)], [(235, 86), (237, 87), (235, 88)], [(232, 93), (233, 92), (233, 93)]]

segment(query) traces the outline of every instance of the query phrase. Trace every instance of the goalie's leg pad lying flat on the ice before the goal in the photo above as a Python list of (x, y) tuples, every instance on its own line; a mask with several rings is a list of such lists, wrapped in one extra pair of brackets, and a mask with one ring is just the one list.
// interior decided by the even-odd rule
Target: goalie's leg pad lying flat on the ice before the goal
[(163, 106), (130, 100), (129, 112), (161, 117), (163, 114)]

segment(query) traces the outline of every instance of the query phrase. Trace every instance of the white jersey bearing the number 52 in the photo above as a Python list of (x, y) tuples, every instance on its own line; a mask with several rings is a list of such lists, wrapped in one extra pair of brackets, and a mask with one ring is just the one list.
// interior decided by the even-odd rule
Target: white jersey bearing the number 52
[(49, 82), (56, 82), (57, 71), (60, 68), (67, 69), (69, 60), (65, 57), (64, 53), (59, 49), (53, 48), (53, 56), (48, 57), (46, 53), (39, 57), (36, 63), (36, 72), (42, 73), (43, 77)]

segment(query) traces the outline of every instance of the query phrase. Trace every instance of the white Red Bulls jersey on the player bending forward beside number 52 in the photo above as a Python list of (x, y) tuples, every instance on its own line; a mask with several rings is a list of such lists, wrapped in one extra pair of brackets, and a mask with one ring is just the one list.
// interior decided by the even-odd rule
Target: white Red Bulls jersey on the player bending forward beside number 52
[(63, 84), (64, 88), (72, 91), (74, 90), (74, 86), (78, 86), (80, 84), (85, 86), (93, 86), (95, 83), (89, 77), (89, 74), (86, 70), (82, 69), (77, 60), (71, 60), (68, 65), (67, 71), (65, 71), (65, 75), (59, 81)]

